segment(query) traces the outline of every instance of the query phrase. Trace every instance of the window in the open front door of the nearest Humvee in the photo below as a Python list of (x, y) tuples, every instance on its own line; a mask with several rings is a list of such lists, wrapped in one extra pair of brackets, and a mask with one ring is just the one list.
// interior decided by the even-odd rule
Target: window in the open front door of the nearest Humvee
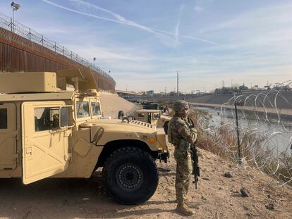
[(35, 108), (35, 132), (59, 128), (59, 107)]

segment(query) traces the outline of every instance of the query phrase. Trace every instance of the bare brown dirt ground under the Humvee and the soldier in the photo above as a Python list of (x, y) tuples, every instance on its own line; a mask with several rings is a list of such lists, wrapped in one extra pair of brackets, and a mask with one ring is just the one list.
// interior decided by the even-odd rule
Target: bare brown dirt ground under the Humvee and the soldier
[[(129, 107), (131, 108), (131, 107)], [(176, 163), (159, 163), (159, 185), (149, 201), (124, 206), (109, 198), (101, 170), (90, 179), (45, 179), (23, 185), (20, 179), (0, 179), (0, 218), (185, 218), (174, 211)], [(292, 218), (292, 189), (279, 187), (267, 175), (238, 168), (200, 150), (201, 177), (191, 184), (188, 218)], [(233, 177), (224, 177), (231, 172)], [(243, 198), (241, 187), (249, 190)]]

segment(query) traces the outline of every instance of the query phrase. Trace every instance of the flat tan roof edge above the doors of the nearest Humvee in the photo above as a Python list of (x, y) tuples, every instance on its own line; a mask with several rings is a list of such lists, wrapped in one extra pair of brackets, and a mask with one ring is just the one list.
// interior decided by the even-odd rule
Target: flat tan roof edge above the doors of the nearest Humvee
[(29, 93), (29, 94), (1, 94), (0, 101), (49, 101), (61, 99), (73, 99), (73, 91), (60, 91), (52, 93)]

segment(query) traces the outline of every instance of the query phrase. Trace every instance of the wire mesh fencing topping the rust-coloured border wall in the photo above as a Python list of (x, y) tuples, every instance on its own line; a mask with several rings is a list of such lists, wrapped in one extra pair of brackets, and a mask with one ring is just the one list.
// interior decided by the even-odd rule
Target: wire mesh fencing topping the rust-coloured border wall
[(104, 70), (96, 66), (94, 63), (78, 56), (78, 54), (75, 54), (73, 51), (66, 49), (64, 46), (57, 44), (56, 42), (48, 39), (47, 37), (44, 37), (35, 30), (32, 30), (30, 27), (26, 27), (25, 25), (18, 23), (17, 21), (14, 21), (13, 23), (12, 18), (9, 18), (8, 16), (1, 13), (0, 27), (4, 28), (5, 30), (11, 31), (16, 35), (19, 35), (20, 37), (28, 39), (30, 40), (30, 42), (35, 42), (36, 44), (44, 46), (45, 48), (50, 49), (51, 51), (54, 51), (57, 54), (66, 56), (67, 58), (70, 58), (71, 60), (80, 63), (81, 65), (85, 65), (86, 67), (91, 68), (95, 72), (99, 73), (99, 75), (102, 75), (102, 77), (107, 78), (114, 84), (114, 86), (116, 86), (116, 82), (111, 77), (111, 75), (104, 72)]

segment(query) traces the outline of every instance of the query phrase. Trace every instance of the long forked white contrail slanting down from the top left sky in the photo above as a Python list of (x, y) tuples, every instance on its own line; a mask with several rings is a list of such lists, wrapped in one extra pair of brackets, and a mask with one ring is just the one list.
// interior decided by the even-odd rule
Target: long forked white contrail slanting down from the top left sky
[[(78, 2), (80, 4), (85, 4), (86, 6), (92, 6), (92, 7), (96, 8), (96, 9), (101, 10), (101, 11), (110, 13), (117, 20), (114, 20), (114, 19), (111, 19), (111, 18), (104, 18), (104, 17), (101, 17), (101, 16), (93, 15), (91, 13), (85, 13), (85, 12), (82, 12), (82, 11), (77, 11), (77, 10), (74, 10), (74, 9), (71, 9), (71, 8), (67, 8), (65, 6), (61, 6), (59, 4), (56, 4), (56, 3), (48, 1), (48, 0), (42, 0), (42, 1), (46, 2), (47, 4), (51, 4), (53, 6), (56, 6), (58, 8), (62, 8), (64, 10), (66, 10), (66, 11), (72, 11), (74, 13), (78, 13), (80, 15), (86, 15), (86, 16), (89, 16), (89, 17), (92, 17), (92, 18), (97, 18), (97, 19), (100, 19), (100, 20), (107, 20), (107, 21), (114, 22), (114, 23), (121, 23), (121, 24), (124, 24), (124, 25), (130, 25), (130, 26), (133, 26), (133, 27), (138, 27), (141, 30), (145, 30), (147, 32), (154, 33), (155, 35), (159, 35), (160, 37), (163, 36), (163, 35), (160, 35), (159, 33), (164, 33), (164, 34), (172, 35), (172, 36), (176, 36), (176, 37), (194, 39), (194, 40), (205, 42), (205, 43), (208, 43), (208, 44), (221, 45), (221, 44), (218, 44), (217, 42), (212, 42), (212, 41), (209, 41), (209, 40), (206, 40), (206, 39), (201, 39), (201, 38), (197, 38), (197, 37), (190, 37), (190, 36), (186, 36), (186, 35), (178, 35), (178, 33), (176, 34), (176, 32), (168, 32), (168, 31), (159, 30), (159, 29), (155, 29), (155, 28), (152, 28), (152, 27), (147, 27), (147, 26), (144, 26), (144, 25), (140, 25), (138, 23), (135, 23), (132, 20), (126, 20), (126, 18), (124, 18), (121, 15), (118, 15), (117, 13), (114, 13), (112, 11), (109, 11), (109, 10), (105, 9), (105, 8), (101, 8), (99, 6), (95, 6), (93, 4), (90, 4), (90, 3), (87, 3), (87, 2), (84, 2), (84, 1), (80, 1), (80, 0), (71, 0), (71, 1), (75, 1), (75, 2)], [(166, 37), (166, 36), (163, 36), (163, 37)]]

